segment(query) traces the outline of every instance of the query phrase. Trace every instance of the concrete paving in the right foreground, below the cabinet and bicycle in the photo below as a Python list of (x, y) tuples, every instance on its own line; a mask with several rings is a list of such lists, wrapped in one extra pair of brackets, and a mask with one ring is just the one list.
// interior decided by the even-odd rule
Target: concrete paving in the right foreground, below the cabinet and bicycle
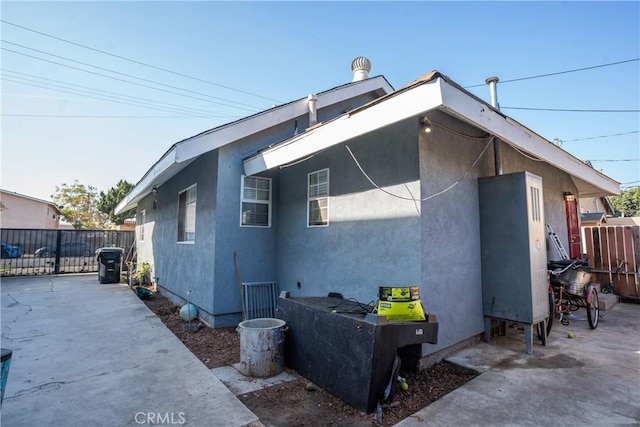
[(516, 327), (449, 357), (482, 374), (396, 427), (640, 425), (640, 305), (600, 311), (594, 330), (575, 315), (533, 355)]

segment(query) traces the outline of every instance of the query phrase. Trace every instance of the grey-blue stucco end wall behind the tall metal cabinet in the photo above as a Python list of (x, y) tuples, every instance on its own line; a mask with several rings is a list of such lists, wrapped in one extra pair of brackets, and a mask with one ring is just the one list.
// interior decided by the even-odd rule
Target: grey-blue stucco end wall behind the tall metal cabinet
[[(427, 198), (460, 180), (478, 158), (488, 139), (482, 132), (443, 114), (434, 113), (435, 126), (421, 134), (421, 197)], [(527, 158), (502, 143), (503, 173), (529, 171), (542, 177), (545, 222), (567, 248), (564, 192), (576, 194), (571, 177)], [(422, 203), (422, 297), (425, 308), (440, 323), (438, 344), (423, 345), (423, 355), (435, 353), (484, 332), (477, 178), (495, 174), (493, 144), (465, 179), (445, 193)], [(550, 248), (548, 248), (550, 249)], [(524, 339), (524, 338), (523, 338)]]

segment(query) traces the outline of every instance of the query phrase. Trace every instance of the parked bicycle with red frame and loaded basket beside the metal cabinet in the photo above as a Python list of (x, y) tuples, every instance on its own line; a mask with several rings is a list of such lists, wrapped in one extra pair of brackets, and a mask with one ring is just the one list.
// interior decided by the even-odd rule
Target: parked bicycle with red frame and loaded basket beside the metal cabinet
[(555, 317), (559, 318), (561, 324), (568, 325), (569, 320), (565, 318), (566, 315), (580, 308), (586, 308), (589, 327), (595, 329), (598, 327), (600, 316), (598, 291), (590, 283), (591, 273), (588, 271), (590, 267), (586, 267), (583, 260), (570, 260), (566, 266), (558, 263), (552, 263), (551, 266), (555, 268), (548, 270), (549, 318), (546, 334), (543, 322), (536, 325), (538, 338), (543, 343), (551, 332)]

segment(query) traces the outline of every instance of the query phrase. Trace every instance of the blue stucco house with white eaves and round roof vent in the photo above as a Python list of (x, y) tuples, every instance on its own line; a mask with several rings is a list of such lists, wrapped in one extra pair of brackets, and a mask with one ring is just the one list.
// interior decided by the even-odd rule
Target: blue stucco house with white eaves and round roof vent
[(484, 331), (478, 178), (541, 177), (543, 219), (567, 247), (577, 197), (619, 193), (438, 72), (397, 91), (366, 72), (183, 140), (144, 175), (116, 213), (137, 206), (138, 257), (163, 294), (218, 327), (241, 320), (238, 276), (364, 303), (418, 284), (440, 324), (426, 356)]

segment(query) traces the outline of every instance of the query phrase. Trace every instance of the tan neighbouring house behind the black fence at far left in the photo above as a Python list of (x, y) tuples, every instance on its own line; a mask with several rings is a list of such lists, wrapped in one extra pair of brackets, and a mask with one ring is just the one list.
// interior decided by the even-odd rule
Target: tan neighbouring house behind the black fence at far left
[(2, 228), (60, 228), (60, 209), (50, 201), (0, 190)]

